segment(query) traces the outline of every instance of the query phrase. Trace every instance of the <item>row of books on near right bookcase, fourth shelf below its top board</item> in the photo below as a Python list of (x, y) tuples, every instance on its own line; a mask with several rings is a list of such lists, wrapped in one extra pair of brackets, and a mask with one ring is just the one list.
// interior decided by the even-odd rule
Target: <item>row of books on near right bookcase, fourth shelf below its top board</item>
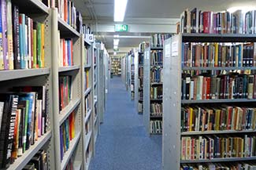
[(255, 157), (255, 136), (182, 137), (181, 160), (211, 160), (228, 157)]

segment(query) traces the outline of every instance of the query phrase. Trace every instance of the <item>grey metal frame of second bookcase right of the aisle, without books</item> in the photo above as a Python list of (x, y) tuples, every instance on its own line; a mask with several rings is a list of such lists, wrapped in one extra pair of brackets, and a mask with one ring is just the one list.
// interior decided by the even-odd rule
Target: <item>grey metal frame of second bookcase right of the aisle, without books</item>
[[(159, 135), (158, 133), (150, 132), (150, 121), (152, 120), (161, 120), (161, 118), (154, 118), (150, 116), (150, 104), (154, 103), (162, 103), (162, 99), (151, 99), (150, 98), (150, 88), (154, 83), (151, 82), (150, 71), (150, 57), (151, 52), (154, 50), (162, 50), (162, 48), (147, 48), (144, 52), (144, 60), (143, 60), (143, 121), (146, 126), (147, 133), (150, 135)], [(156, 65), (158, 67), (158, 65)], [(161, 85), (161, 84), (160, 84)]]

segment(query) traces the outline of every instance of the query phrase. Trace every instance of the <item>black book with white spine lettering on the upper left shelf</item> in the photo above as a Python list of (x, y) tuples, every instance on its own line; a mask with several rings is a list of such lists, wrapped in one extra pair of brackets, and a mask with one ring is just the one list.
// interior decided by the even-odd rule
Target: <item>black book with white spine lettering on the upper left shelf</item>
[(19, 8), (13, 5), (13, 57), (14, 68), (20, 69), (20, 28), (19, 28)]

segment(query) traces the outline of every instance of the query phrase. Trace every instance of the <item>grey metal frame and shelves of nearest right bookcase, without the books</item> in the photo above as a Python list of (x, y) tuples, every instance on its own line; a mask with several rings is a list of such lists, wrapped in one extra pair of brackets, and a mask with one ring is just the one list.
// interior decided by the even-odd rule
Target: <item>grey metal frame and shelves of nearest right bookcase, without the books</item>
[[(182, 136), (211, 136), (254, 134), (254, 130), (244, 131), (204, 131), (180, 132), (181, 107), (191, 104), (204, 103), (254, 103), (255, 99), (206, 99), (182, 100), (181, 75), (183, 71), (232, 71), (254, 70), (255, 67), (181, 67), (183, 42), (256, 42), (255, 34), (178, 34), (165, 40), (164, 44), (164, 82), (163, 82), (163, 139), (162, 139), (162, 169), (180, 169), (180, 164), (199, 164), (207, 162), (236, 162), (256, 161), (256, 157), (228, 157), (210, 160), (180, 160), (180, 146)], [(180, 63), (180, 64), (179, 64)]]

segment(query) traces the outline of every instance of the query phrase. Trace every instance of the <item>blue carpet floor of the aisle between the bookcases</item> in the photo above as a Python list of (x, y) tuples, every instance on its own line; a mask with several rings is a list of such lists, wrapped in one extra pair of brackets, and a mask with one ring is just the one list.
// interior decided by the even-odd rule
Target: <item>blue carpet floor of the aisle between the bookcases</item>
[(90, 170), (161, 170), (161, 136), (147, 136), (143, 115), (121, 78), (111, 78), (104, 123)]

